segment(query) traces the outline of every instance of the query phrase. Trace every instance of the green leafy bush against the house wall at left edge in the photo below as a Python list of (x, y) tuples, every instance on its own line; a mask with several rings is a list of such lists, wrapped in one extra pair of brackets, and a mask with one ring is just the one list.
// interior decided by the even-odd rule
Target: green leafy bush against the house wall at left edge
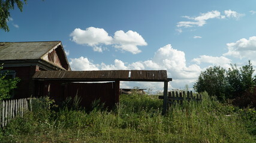
[[(2, 70), (3, 67), (0, 67)], [(17, 83), (19, 83), (19, 77), (15, 77), (14, 79), (6, 78), (7, 73), (0, 74), (0, 101), (11, 98), (11, 91), (17, 88)]]

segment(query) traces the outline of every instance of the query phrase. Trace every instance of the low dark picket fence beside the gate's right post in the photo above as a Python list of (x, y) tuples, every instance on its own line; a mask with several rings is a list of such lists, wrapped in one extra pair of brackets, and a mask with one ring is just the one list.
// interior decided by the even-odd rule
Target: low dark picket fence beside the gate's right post
[[(159, 96), (159, 99), (164, 99), (164, 96)], [(192, 91), (180, 91), (180, 92), (168, 92), (168, 103), (169, 104), (174, 104), (175, 102), (180, 102), (182, 103), (184, 100), (187, 101), (201, 101), (202, 100), (202, 95), (196, 94), (195, 96), (193, 95)]]

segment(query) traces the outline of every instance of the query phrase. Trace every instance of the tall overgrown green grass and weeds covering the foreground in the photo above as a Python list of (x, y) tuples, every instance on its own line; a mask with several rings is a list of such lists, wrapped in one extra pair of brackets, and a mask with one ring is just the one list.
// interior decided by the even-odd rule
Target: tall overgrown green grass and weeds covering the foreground
[(256, 142), (255, 110), (205, 93), (201, 102), (172, 105), (165, 116), (156, 96), (121, 95), (120, 101), (112, 111), (29, 111), (0, 131), (0, 142)]

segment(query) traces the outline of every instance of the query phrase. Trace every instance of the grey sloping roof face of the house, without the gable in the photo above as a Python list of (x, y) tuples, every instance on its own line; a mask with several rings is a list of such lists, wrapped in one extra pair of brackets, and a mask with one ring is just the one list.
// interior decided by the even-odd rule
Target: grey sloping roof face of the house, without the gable
[(0, 42), (0, 60), (39, 59), (61, 41)]

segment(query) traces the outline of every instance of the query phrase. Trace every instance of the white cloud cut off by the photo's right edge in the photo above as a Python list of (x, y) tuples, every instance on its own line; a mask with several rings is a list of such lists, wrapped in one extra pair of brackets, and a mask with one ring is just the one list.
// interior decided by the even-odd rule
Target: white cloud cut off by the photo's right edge
[(242, 38), (239, 41), (233, 43), (227, 43), (228, 52), (225, 55), (229, 55), (236, 58), (248, 58), (256, 60), (256, 36), (252, 36), (249, 39)]

